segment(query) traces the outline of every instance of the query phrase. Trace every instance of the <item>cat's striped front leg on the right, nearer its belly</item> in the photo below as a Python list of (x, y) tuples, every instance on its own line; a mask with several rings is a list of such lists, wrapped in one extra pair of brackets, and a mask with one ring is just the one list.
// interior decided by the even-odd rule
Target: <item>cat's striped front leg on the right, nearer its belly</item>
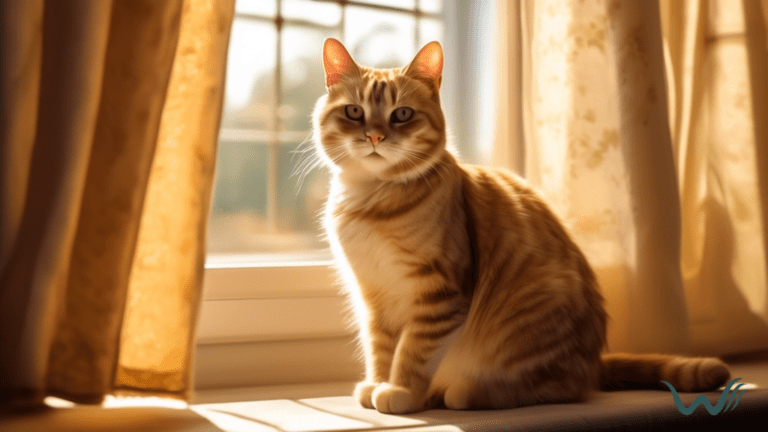
[(461, 324), (457, 307), (417, 315), (403, 331), (388, 382), (373, 391), (373, 406), (385, 414), (407, 414), (431, 408), (427, 390), (430, 363), (445, 339)]

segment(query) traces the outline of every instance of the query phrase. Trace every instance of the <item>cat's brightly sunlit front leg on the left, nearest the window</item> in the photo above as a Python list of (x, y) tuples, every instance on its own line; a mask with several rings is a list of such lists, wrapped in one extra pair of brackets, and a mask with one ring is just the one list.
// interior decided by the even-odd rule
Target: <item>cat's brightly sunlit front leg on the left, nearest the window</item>
[(389, 379), (392, 357), (397, 346), (397, 334), (380, 325), (380, 320), (372, 319), (363, 333), (365, 351), (365, 380), (355, 386), (354, 397), (365, 408), (374, 408), (373, 391)]

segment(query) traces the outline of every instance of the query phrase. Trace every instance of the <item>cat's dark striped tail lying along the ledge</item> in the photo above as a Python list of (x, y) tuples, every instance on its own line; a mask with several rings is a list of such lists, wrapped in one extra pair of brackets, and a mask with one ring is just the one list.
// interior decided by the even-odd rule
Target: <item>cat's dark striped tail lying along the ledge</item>
[(661, 381), (677, 391), (703, 392), (724, 385), (731, 377), (728, 367), (713, 357), (681, 357), (664, 354), (603, 354), (602, 390), (663, 389)]

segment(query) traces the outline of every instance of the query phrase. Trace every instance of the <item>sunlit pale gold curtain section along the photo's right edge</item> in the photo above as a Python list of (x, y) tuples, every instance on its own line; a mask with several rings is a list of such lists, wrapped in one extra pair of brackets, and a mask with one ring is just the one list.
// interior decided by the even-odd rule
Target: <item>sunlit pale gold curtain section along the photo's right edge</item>
[(764, 120), (755, 112), (760, 79), (750, 79), (748, 55), (755, 35), (745, 31), (742, 2), (687, 2), (683, 12), (685, 62), (675, 74), (691, 77), (677, 112), (683, 121), (676, 150), (692, 342), (701, 352), (765, 349), (765, 188), (758, 169), (765, 143), (757, 134)]

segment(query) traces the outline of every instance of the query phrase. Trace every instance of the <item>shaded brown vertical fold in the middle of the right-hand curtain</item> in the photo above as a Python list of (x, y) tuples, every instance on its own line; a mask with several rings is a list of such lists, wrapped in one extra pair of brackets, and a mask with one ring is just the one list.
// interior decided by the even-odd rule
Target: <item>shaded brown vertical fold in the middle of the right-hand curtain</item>
[(621, 152), (636, 231), (629, 287), (630, 343), (685, 352), (690, 336), (680, 274), (680, 200), (667, 115), (659, 4), (612, 1), (609, 37), (617, 74)]

